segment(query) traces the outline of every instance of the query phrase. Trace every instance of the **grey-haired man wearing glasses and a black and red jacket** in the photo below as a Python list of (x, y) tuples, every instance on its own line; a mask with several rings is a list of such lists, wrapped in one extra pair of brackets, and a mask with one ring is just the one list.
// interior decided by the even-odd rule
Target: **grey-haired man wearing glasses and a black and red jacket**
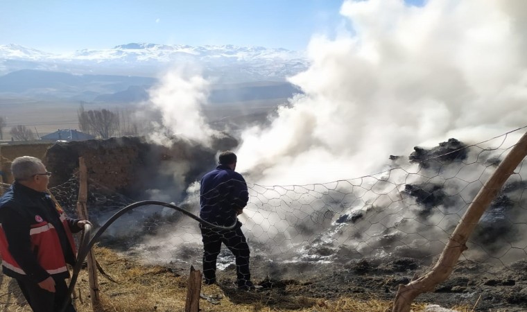
[[(66, 263), (74, 265), (72, 232), (87, 220), (67, 218), (46, 192), (51, 173), (40, 159), (17, 157), (15, 182), (0, 198), (0, 252), (3, 274), (16, 279), (35, 312), (59, 311), (67, 297)], [(69, 305), (68, 312), (74, 312)]]

